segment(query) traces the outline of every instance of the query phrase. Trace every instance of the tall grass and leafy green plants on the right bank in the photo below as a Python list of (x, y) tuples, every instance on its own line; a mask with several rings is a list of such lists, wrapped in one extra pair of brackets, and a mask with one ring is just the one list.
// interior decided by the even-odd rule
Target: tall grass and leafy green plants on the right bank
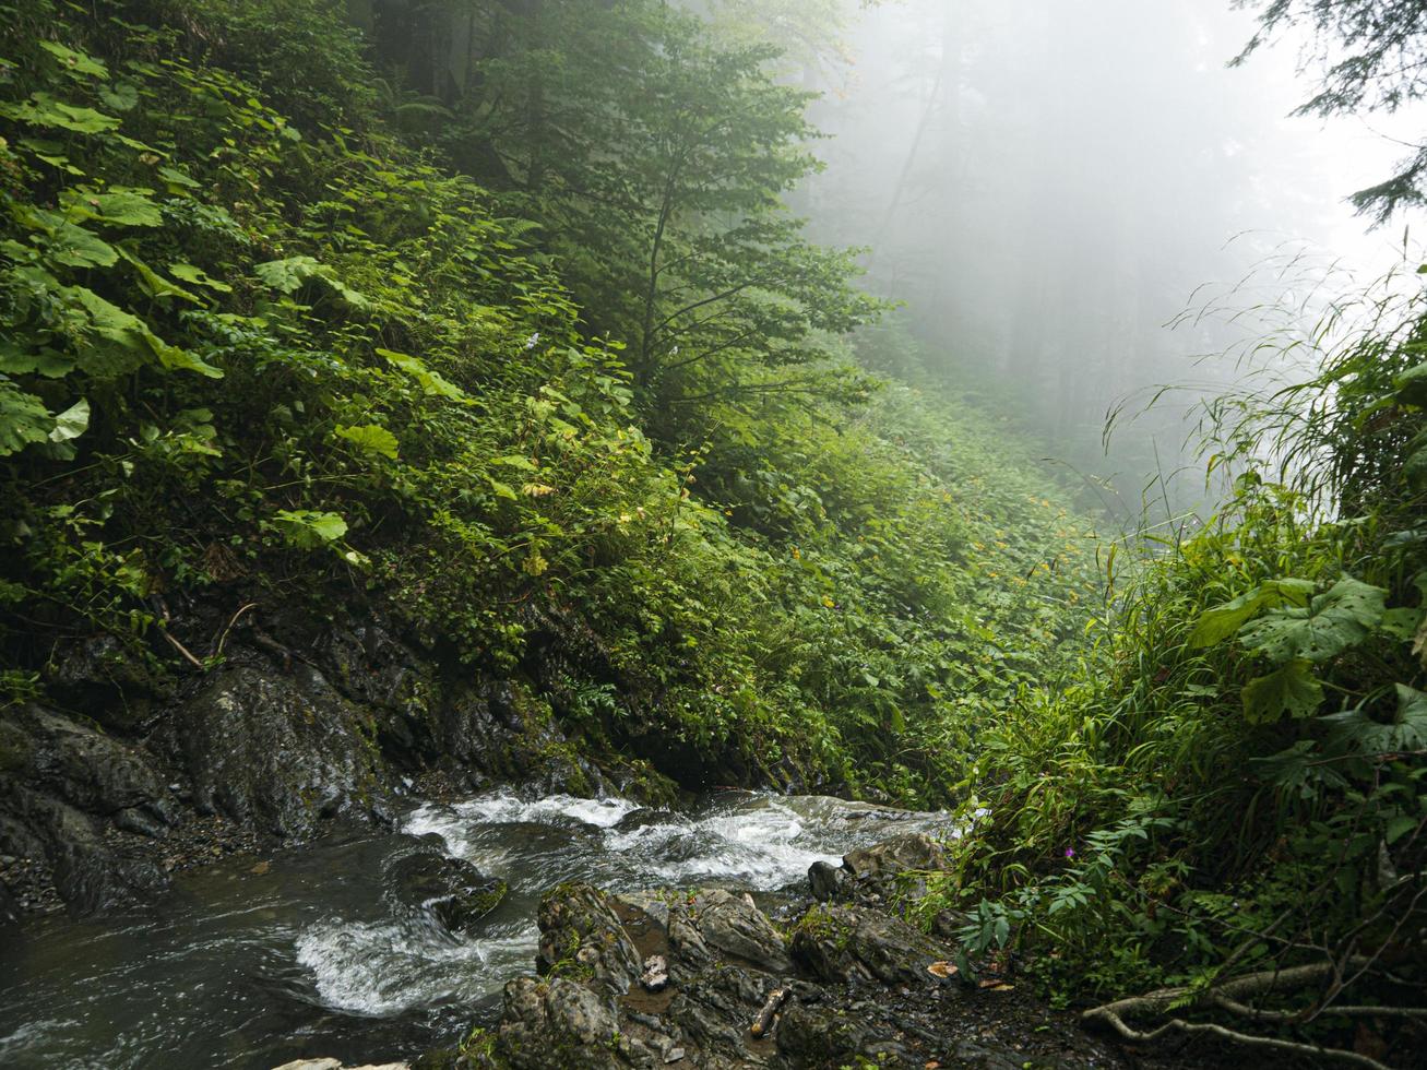
[(1381, 305), (1306, 382), (1210, 407), (1234, 496), (1122, 565), (1069, 685), (983, 736), (990, 812), (925, 907), (970, 907), (970, 952), (1042, 952), (1060, 999), (1176, 984), (1184, 1006), (1356, 954), (1354, 994), (1281, 1002), (1327, 1033), (1333, 1000), (1401, 997), (1384, 970), (1420, 962), (1427, 862), (1424, 301)]

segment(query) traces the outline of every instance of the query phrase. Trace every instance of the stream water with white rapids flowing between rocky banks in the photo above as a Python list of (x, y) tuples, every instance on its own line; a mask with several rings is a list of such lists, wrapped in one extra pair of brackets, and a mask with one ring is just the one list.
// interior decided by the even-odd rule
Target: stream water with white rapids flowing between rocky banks
[[(0, 1066), (410, 1059), (494, 1020), (505, 982), (534, 970), (535, 907), (561, 882), (776, 892), (898, 832), (953, 829), (948, 815), (742, 792), (686, 813), (509, 792), (428, 803), (400, 832), (283, 852), (265, 872), (248, 857), (183, 875), (144, 913), (0, 930)], [(394, 887), (394, 860), (432, 846), (509, 883), (469, 933)]]

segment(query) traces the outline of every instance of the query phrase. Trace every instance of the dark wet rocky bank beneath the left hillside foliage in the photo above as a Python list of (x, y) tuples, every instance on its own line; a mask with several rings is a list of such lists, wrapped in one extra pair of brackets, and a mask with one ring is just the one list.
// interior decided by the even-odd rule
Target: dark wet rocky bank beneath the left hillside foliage
[(160, 675), (93, 638), (54, 659), (43, 702), (0, 716), (0, 923), (151, 903), (176, 872), (310, 840), (337, 817), (390, 827), (412, 798), (519, 783), (668, 802), (671, 775), (694, 790), (769, 780), (716, 762), (691, 776), (688, 755), (639, 733), (609, 753), (574, 745), (575, 681), (641, 688), (564, 622), (532, 621), (527, 662), (501, 676), (377, 621), (225, 622), (195, 606), (181, 631), (200, 651), (191, 636), (211, 632), (201, 666)]

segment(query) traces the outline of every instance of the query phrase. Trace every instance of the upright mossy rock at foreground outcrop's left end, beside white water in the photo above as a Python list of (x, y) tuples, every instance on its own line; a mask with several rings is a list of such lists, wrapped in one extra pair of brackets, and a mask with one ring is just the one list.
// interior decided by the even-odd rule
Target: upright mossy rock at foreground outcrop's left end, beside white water
[(561, 885), (539, 905), (542, 974), (586, 980), (606, 996), (624, 994), (642, 973), (639, 953), (609, 899), (589, 885)]

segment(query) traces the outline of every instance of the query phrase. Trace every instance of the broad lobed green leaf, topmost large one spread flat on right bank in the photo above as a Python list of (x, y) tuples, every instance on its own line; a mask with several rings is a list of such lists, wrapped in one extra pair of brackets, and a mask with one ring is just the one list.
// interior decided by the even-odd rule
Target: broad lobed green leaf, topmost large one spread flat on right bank
[(1319, 663), (1360, 643), (1381, 622), (1387, 592), (1344, 576), (1307, 606), (1286, 606), (1239, 629), (1244, 648), (1277, 665)]

